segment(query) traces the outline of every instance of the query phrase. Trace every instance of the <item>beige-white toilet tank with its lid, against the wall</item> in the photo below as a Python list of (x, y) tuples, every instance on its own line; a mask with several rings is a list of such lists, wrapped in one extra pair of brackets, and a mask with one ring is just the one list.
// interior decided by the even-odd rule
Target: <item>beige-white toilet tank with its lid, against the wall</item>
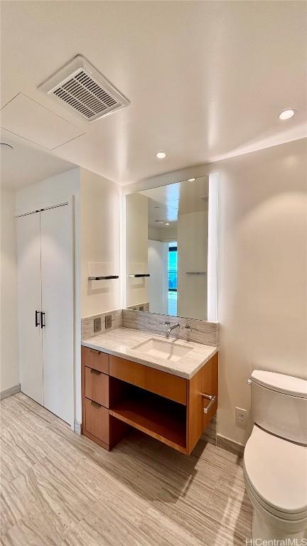
[(252, 419), (281, 438), (307, 445), (307, 381), (254, 370)]

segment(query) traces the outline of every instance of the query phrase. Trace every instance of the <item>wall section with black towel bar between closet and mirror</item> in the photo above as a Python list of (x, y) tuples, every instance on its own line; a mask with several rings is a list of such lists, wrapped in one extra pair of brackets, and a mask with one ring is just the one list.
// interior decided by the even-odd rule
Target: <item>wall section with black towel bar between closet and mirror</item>
[(119, 309), (120, 280), (88, 277), (120, 274), (120, 188), (81, 169), (81, 301), (82, 317)]

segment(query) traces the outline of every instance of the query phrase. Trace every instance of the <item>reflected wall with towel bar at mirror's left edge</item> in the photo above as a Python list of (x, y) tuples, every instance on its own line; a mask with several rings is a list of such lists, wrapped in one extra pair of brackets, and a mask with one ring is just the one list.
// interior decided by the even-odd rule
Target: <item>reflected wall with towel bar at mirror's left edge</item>
[[(148, 197), (126, 196), (126, 274), (148, 272)], [(146, 278), (126, 277), (126, 306), (149, 301)]]

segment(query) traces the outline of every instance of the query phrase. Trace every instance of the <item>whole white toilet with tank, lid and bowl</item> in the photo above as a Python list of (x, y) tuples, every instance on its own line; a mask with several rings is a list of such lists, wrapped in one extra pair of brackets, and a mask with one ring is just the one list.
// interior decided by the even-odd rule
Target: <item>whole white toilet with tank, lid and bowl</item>
[(307, 537), (307, 381), (254, 370), (244, 450), (253, 540)]

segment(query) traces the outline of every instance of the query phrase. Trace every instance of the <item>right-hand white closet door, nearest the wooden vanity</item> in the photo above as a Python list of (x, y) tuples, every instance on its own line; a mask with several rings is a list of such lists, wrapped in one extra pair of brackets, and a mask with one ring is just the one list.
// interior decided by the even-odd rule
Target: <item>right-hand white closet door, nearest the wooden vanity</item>
[(73, 422), (72, 228), (68, 205), (41, 212), (44, 406)]

